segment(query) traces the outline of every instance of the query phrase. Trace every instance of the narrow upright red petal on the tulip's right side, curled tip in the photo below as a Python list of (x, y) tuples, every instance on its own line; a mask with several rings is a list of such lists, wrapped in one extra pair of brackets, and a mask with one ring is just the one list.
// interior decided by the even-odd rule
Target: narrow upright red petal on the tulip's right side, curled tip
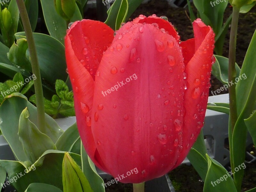
[(203, 127), (209, 95), (215, 34), (211, 27), (206, 26), (199, 19), (193, 23), (193, 27), (195, 31), (195, 47), (198, 48), (196, 48), (195, 55), (188, 62), (185, 69), (188, 89), (184, 95), (184, 108), (186, 111), (182, 134), (184, 150), (181, 152), (175, 167), (187, 156)]

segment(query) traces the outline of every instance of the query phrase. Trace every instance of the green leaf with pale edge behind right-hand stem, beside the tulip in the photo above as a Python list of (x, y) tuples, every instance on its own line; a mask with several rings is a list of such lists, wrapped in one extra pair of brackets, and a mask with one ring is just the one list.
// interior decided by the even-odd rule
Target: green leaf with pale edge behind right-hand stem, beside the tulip
[[(216, 61), (212, 65), (212, 75), (219, 79), (222, 84), (228, 85), (228, 83), (230, 83), (228, 82), (228, 58), (219, 55), (214, 55), (214, 57), (216, 58)], [(239, 77), (240, 71), (241, 69), (236, 63), (236, 77)], [(228, 90), (228, 87), (226, 88), (226, 90)]]

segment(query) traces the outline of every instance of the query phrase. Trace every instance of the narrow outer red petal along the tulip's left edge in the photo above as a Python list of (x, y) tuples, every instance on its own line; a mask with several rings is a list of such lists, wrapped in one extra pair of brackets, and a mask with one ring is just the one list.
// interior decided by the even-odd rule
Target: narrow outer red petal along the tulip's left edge
[[(79, 22), (74, 23), (72, 28), (76, 28), (77, 24), (79, 24)], [(69, 77), (74, 90), (77, 127), (87, 154), (94, 160), (96, 145), (92, 136), (90, 122), (94, 81), (91, 74), (77, 58), (77, 55), (75, 54), (76, 49), (72, 46), (73, 40), (73, 37), (70, 39), (68, 33), (65, 37), (65, 52)], [(102, 170), (105, 170), (105, 168), (97, 163), (97, 161), (94, 160), (94, 163)]]

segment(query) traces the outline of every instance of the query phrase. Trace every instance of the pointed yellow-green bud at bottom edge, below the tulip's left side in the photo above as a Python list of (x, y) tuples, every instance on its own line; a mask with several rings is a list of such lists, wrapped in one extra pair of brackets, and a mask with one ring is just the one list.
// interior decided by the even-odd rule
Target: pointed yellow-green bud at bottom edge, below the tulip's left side
[(63, 192), (93, 192), (84, 173), (67, 152), (62, 163), (62, 183)]

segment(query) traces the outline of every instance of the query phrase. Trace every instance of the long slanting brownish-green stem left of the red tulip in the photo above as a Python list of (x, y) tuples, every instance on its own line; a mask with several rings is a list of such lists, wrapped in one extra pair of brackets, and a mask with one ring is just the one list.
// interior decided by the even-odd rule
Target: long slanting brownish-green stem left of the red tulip
[(16, 0), (20, 17), (23, 23), (24, 31), (27, 36), (28, 41), (28, 50), (31, 58), (31, 66), (32, 72), (36, 76), (36, 80), (34, 80), (35, 84), (35, 92), (36, 92), (36, 107), (37, 107), (37, 124), (38, 129), (45, 133), (45, 116), (44, 116), (44, 95), (43, 95), (43, 87), (41, 81), (40, 68), (38, 64), (38, 58), (36, 53), (36, 44), (33, 38), (32, 28), (28, 18), (28, 12), (26, 10), (25, 4), (23, 0)]

